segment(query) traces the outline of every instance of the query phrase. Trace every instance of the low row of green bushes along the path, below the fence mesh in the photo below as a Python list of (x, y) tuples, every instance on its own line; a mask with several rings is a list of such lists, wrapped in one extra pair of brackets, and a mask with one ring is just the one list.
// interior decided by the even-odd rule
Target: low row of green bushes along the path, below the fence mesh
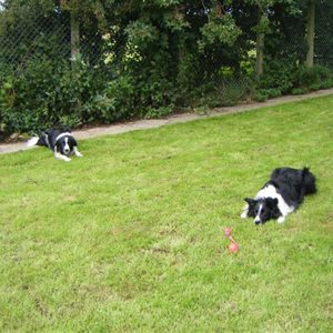
[(161, 118), (178, 105), (225, 107), (249, 97), (265, 101), (289, 92), (333, 87), (332, 71), (324, 67), (296, 68), (293, 62), (276, 61), (265, 65), (255, 90), (249, 78), (235, 79), (234, 73), (228, 77), (228, 67), (221, 71), (223, 78), (218, 75), (200, 84), (193, 71), (199, 69), (198, 54), (184, 54), (178, 71), (172, 71), (167, 50), (110, 68), (83, 61), (72, 68), (65, 61), (56, 63), (48, 58), (31, 59), (16, 71), (0, 67), (0, 137), (60, 124), (75, 128), (130, 118)]

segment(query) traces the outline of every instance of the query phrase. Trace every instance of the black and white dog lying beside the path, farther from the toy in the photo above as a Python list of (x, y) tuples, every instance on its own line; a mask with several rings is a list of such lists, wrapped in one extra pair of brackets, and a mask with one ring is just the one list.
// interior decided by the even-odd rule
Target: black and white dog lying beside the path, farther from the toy
[(33, 137), (28, 141), (28, 145), (44, 145), (51, 149), (56, 159), (69, 162), (70, 155), (82, 158), (78, 151), (78, 143), (73, 134), (68, 129), (50, 129), (41, 132), (39, 137)]

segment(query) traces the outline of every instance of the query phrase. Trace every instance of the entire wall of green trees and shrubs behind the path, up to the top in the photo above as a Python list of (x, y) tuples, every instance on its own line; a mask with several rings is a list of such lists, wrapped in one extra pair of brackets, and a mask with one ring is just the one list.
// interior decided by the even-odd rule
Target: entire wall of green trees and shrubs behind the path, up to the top
[[(310, 73), (301, 65), (305, 0), (1, 3), (2, 137), (331, 87), (317, 69)], [(316, 6), (332, 13), (330, 1)], [(69, 61), (71, 16), (80, 18), (82, 54), (75, 65)], [(330, 67), (332, 24), (316, 22), (316, 61)], [(264, 74), (254, 87), (259, 32), (265, 34)]]

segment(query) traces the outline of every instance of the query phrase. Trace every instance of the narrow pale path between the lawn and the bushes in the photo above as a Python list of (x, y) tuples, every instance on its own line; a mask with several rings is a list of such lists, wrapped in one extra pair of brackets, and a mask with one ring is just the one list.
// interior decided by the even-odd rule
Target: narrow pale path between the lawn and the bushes
[[(182, 113), (182, 114), (174, 114), (164, 119), (139, 120), (139, 121), (125, 122), (121, 124), (113, 124), (113, 125), (101, 127), (101, 128), (77, 130), (73, 131), (73, 134), (75, 135), (77, 139), (83, 140), (83, 139), (90, 139), (100, 135), (111, 135), (111, 134), (119, 134), (119, 133), (124, 133), (124, 132), (130, 132), (135, 130), (159, 128), (162, 125), (186, 122), (195, 119), (244, 112), (244, 111), (250, 111), (259, 108), (272, 107), (272, 105), (283, 104), (287, 102), (302, 101), (310, 98), (316, 98), (316, 97), (323, 97), (330, 94), (333, 94), (333, 89), (319, 90), (302, 95), (281, 97), (281, 98), (268, 100), (266, 102), (263, 103), (249, 103), (249, 104), (239, 104), (235, 107), (216, 108), (211, 110), (208, 114)], [(27, 147), (24, 142), (0, 144), (0, 153), (10, 153), (10, 152), (17, 152), (27, 149), (31, 149), (31, 148)]]

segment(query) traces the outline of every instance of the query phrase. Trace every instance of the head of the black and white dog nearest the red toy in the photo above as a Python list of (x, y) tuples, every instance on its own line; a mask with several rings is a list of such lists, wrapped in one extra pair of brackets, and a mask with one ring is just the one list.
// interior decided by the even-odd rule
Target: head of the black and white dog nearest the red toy
[(271, 219), (278, 219), (281, 216), (281, 212), (278, 206), (276, 198), (264, 198), (264, 199), (244, 199), (248, 204), (248, 216), (254, 218), (254, 224), (265, 223)]

